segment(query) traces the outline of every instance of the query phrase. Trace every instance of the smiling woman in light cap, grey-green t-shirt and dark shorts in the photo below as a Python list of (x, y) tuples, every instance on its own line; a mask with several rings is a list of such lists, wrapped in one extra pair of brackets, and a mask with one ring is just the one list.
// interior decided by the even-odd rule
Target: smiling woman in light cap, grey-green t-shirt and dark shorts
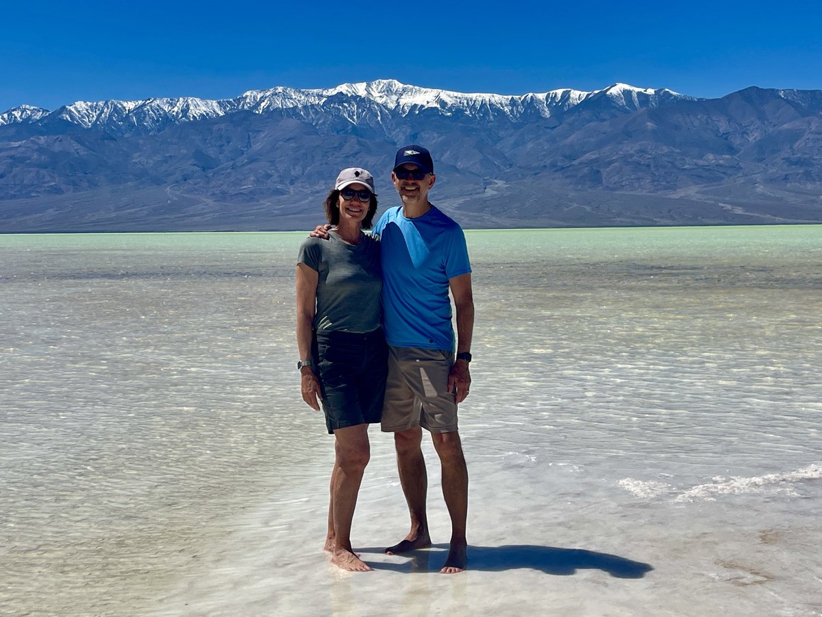
[(374, 179), (365, 169), (339, 172), (326, 197), (333, 225), (327, 240), (308, 238), (297, 263), (298, 369), (302, 399), (335, 436), (326, 550), (340, 568), (371, 568), (351, 548), (351, 521), (368, 464), (368, 424), (379, 422), (386, 387), (387, 346), (380, 326), (380, 245), (371, 229)]

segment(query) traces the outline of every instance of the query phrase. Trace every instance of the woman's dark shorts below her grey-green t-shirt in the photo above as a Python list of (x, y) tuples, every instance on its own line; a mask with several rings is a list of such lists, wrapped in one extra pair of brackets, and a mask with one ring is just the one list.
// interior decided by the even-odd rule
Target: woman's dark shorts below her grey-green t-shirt
[(329, 433), (381, 420), (386, 396), (388, 346), (373, 332), (317, 332), (314, 361)]

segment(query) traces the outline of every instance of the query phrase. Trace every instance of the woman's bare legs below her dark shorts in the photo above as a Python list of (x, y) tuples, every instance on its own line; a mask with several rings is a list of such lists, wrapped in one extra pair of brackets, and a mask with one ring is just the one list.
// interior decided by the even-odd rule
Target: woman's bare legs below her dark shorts
[(336, 466), (332, 508), (334, 508), (335, 546), (331, 561), (344, 570), (366, 572), (371, 568), (351, 548), (351, 522), (363, 471), (370, 458), (368, 425), (358, 424), (335, 429)]

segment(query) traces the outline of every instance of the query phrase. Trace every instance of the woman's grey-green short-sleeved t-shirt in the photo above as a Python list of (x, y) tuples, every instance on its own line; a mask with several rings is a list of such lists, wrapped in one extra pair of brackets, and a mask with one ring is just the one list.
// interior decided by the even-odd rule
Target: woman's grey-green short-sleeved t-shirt
[(314, 328), (372, 332), (381, 322), (380, 243), (368, 234), (360, 244), (348, 244), (334, 231), (329, 235), (307, 238), (297, 257), (318, 275)]

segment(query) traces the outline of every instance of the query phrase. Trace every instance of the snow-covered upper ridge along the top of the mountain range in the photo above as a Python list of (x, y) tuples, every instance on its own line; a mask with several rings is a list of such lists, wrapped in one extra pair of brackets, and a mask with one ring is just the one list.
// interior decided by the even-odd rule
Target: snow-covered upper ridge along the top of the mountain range
[[(342, 84), (322, 90), (298, 90), (277, 87), (270, 90), (249, 90), (235, 99), (207, 100), (197, 98), (148, 99), (139, 101), (105, 100), (77, 101), (54, 112), (35, 108), (26, 114), (10, 110), (0, 115), (0, 125), (12, 122), (34, 123), (43, 118), (59, 119), (83, 128), (95, 128), (113, 135), (132, 133), (150, 134), (169, 126), (218, 118), (238, 111), (266, 114), (274, 111), (302, 118), (316, 118), (323, 114), (337, 114), (353, 124), (368, 120), (381, 123), (386, 112), (394, 118), (434, 110), (443, 116), (455, 114), (469, 118), (505, 117), (512, 121), (520, 118), (552, 118), (587, 100), (607, 97), (618, 108), (625, 110), (657, 107), (675, 100), (693, 100), (672, 90), (649, 90), (615, 84), (604, 90), (552, 90), (542, 94), (495, 95), (464, 94), (449, 90), (434, 90), (408, 86), (395, 80), (367, 81)], [(7, 119), (8, 118), (8, 119)]]

